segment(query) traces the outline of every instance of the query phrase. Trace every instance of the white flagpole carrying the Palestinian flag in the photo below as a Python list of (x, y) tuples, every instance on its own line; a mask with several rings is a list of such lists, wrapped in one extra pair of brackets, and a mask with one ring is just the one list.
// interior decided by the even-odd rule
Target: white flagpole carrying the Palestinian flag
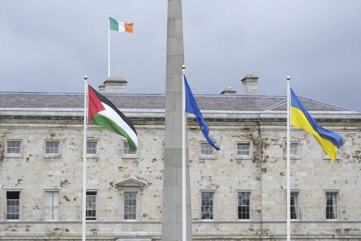
[(85, 88), (84, 88), (84, 142), (83, 142), (83, 202), (82, 202), (82, 241), (85, 240), (85, 204), (86, 204), (86, 177), (87, 177), (87, 90), (88, 90), (88, 83), (87, 83), (88, 76), (84, 76), (85, 80)]

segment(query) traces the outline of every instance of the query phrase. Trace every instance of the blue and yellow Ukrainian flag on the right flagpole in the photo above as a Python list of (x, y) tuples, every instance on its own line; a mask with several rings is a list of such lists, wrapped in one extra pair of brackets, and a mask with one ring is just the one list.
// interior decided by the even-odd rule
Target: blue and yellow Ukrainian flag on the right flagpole
[(311, 116), (308, 114), (305, 106), (300, 99), (296, 96), (291, 88), (291, 126), (297, 126), (312, 134), (321, 145), (323, 151), (335, 161), (336, 151), (340, 149), (343, 138), (335, 132), (328, 131), (321, 127)]

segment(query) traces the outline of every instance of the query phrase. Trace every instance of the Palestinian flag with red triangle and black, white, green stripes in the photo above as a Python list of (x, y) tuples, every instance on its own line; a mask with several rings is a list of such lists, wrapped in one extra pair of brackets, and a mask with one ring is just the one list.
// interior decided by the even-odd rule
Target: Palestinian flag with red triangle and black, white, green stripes
[(107, 98), (88, 85), (88, 122), (103, 126), (128, 139), (130, 151), (138, 145), (136, 131), (130, 120)]

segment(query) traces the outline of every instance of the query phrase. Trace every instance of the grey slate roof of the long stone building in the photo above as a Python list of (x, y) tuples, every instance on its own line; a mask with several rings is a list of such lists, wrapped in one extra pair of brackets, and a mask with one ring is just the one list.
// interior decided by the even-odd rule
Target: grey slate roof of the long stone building
[[(120, 109), (165, 109), (165, 94), (104, 93), (104, 96)], [(195, 98), (201, 110), (286, 110), (287, 106), (285, 96), (196, 94)], [(327, 103), (299, 98), (309, 111), (348, 111)], [(0, 107), (82, 108), (83, 105), (83, 93), (0, 92)]]

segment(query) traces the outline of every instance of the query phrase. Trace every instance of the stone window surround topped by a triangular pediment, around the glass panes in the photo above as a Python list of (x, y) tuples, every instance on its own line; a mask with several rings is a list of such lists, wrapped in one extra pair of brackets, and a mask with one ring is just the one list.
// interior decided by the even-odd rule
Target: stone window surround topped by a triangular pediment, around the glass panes
[[(120, 212), (119, 220), (126, 222), (139, 222), (142, 221), (142, 194), (143, 188), (146, 186), (145, 183), (135, 180), (133, 178), (128, 178), (125, 181), (119, 182), (116, 184), (119, 189), (120, 198)], [(136, 195), (136, 219), (124, 219), (124, 193), (134, 192)]]

